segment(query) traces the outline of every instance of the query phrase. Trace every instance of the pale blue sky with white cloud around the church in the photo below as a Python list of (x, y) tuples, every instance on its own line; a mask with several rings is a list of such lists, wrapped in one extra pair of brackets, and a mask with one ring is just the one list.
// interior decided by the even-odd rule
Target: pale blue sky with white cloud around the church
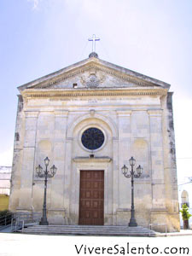
[(0, 166), (10, 166), (17, 87), (88, 57), (172, 84), (179, 177), (192, 176), (192, 1), (1, 0)]

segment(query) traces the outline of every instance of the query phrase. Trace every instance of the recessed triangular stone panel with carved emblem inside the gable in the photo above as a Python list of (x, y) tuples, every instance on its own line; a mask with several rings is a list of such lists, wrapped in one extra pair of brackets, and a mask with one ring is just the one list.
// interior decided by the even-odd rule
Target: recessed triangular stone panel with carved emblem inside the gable
[[(85, 88), (96, 88), (96, 87), (110, 87), (105, 86), (107, 83), (107, 78), (113, 78), (117, 83), (114, 87), (131, 87), (131, 86), (141, 86), (141, 87), (151, 87), (156, 84), (143, 81), (142, 79), (137, 79), (131, 77), (130, 75), (120, 73), (112, 68), (102, 67), (98, 64), (86, 65), (85, 67), (79, 67), (68, 73), (63, 73), (56, 76), (54, 79), (49, 79), (47, 81), (38, 83), (30, 88), (33, 89), (56, 89), (56, 88), (69, 88), (66, 84), (67, 81), (73, 79), (79, 79), (81, 87)], [(113, 83), (112, 83), (113, 87)]]

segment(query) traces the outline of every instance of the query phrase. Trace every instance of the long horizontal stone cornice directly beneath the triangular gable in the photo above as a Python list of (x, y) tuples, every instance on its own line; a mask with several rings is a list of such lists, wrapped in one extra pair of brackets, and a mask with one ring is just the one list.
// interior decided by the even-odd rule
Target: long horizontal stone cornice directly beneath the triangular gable
[(21, 92), (24, 98), (72, 98), (72, 97), (94, 97), (94, 96), (165, 96), (166, 89), (154, 88), (123, 88), (110, 90), (24, 90)]

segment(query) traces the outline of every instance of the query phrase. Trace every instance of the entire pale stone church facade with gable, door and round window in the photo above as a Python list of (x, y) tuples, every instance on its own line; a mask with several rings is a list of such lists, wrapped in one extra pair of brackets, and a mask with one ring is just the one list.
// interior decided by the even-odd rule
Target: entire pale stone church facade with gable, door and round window
[[(41, 212), (48, 179), (49, 224), (127, 225), (129, 159), (137, 224), (179, 230), (177, 169), (170, 84), (102, 61), (96, 53), (24, 84), (20, 90), (9, 209)], [(161, 226), (159, 226), (161, 227)], [(162, 228), (161, 229), (165, 229)]]

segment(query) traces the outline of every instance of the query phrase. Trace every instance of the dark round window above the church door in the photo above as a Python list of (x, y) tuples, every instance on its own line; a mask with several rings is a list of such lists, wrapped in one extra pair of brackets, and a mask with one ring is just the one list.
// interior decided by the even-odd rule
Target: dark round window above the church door
[(84, 148), (94, 150), (102, 147), (104, 139), (105, 137), (101, 130), (91, 127), (84, 131), (81, 137), (81, 142), (84, 145)]

